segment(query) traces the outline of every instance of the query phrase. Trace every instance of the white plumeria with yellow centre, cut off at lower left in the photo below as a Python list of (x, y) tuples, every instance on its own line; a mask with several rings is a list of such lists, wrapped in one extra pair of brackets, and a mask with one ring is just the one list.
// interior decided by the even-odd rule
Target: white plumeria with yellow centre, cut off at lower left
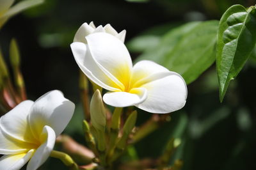
[[(0, 118), (0, 169), (37, 169), (51, 154), (56, 136), (72, 118), (75, 105), (54, 90), (35, 102), (25, 100)], [(29, 160), (30, 159), (30, 160)]]

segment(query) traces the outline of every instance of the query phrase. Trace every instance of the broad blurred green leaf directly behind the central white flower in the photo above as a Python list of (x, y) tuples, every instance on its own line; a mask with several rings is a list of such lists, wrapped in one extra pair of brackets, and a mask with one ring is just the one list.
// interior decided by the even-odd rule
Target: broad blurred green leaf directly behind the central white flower
[(187, 84), (215, 60), (218, 21), (189, 22), (166, 33), (157, 47), (146, 50), (137, 61), (149, 59), (180, 73)]

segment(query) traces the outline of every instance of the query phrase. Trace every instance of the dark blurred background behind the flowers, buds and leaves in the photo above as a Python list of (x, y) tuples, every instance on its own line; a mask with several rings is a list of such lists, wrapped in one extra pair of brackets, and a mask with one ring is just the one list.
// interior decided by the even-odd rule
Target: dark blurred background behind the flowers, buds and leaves
[[(17, 38), (22, 56), (22, 72), (30, 99), (47, 91), (60, 89), (76, 103), (76, 114), (67, 134), (84, 143), (83, 117), (78, 89), (79, 68), (70, 43), (83, 22), (95, 26), (111, 24), (116, 31), (127, 30), (125, 42), (149, 34), (146, 30), (192, 20), (220, 20), (232, 4), (246, 7), (254, 0), (152, 0), (132, 3), (124, 0), (45, 0), (10, 19), (0, 31), (0, 44), (6, 62), (10, 40)], [(135, 59), (140, 53), (133, 52)], [(222, 104), (218, 98), (215, 65), (188, 86), (187, 104), (173, 112), (172, 121), (136, 144), (139, 158), (158, 157), (170, 137), (179, 137), (181, 145), (175, 158), (184, 161), (182, 170), (256, 169), (256, 89), (255, 59), (250, 59), (236, 80), (232, 81)], [(138, 124), (151, 114), (140, 112)], [(170, 160), (170, 163), (173, 162)], [(50, 158), (41, 169), (65, 169)]]

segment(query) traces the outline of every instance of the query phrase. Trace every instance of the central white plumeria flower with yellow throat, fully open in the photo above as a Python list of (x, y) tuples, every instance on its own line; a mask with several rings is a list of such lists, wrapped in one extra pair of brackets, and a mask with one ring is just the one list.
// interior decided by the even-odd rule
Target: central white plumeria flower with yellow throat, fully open
[(77, 32), (71, 44), (74, 58), (89, 79), (111, 91), (103, 96), (106, 104), (135, 105), (154, 113), (173, 112), (184, 106), (187, 86), (178, 73), (152, 61), (132, 66), (124, 41), (109, 33), (82, 32), (81, 28)]

